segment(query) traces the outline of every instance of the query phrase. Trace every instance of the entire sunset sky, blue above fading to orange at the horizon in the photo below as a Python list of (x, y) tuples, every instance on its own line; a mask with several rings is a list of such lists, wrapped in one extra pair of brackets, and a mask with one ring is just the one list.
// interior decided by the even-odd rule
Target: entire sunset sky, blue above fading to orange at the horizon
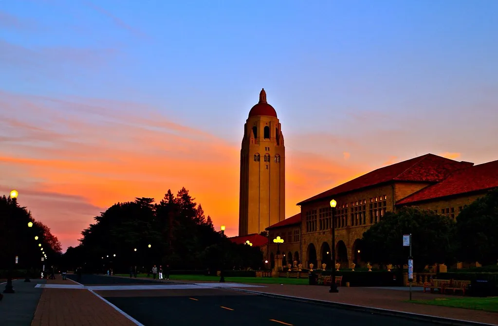
[(261, 88), (286, 216), (373, 169), (498, 159), (498, 1), (0, 0), (0, 194), (63, 248), (93, 217), (185, 187), (237, 235)]

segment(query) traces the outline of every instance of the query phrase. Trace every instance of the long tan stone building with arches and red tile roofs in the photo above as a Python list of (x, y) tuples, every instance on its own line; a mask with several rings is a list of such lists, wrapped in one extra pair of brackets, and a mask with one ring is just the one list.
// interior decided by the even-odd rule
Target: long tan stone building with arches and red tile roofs
[(277, 251), (272, 242), (275, 236), (288, 239), (289, 234), (300, 230), (296, 236), (299, 241), (281, 245), (280, 251), (291, 252), (296, 257), (297, 252), (306, 267), (309, 263), (315, 268), (326, 263), (330, 268), (332, 199), (337, 201), (336, 260), (343, 267), (352, 267), (353, 263), (365, 263), (361, 258), (363, 233), (386, 212), (410, 205), (456, 217), (465, 205), (497, 187), (498, 161), (474, 166), (426, 154), (392, 164), (298, 203), (299, 217), (267, 228), (268, 258), (272, 263), (271, 257)]

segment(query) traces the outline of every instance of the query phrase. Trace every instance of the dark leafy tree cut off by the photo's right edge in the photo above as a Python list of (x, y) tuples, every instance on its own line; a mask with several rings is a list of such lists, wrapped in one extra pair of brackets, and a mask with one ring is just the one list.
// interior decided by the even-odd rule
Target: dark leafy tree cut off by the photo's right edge
[(457, 258), (482, 265), (498, 260), (498, 189), (466, 206), (457, 217)]

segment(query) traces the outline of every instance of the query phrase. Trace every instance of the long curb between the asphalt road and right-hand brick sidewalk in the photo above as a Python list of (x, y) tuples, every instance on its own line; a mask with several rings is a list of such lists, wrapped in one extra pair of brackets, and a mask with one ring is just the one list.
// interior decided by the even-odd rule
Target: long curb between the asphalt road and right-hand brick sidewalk
[(226, 290), (230, 290), (230, 291), (250, 293), (250, 294), (260, 295), (260, 296), (264, 296), (264, 297), (275, 298), (275, 299), (313, 303), (313, 304), (328, 306), (328, 307), (332, 307), (332, 308), (340, 308), (340, 309), (346, 309), (346, 310), (352, 310), (352, 311), (360, 311), (360, 312), (376, 314), (376, 315), (407, 318), (407, 319), (422, 321), (422, 322), (426, 322), (426, 323), (436, 323), (436, 324), (442, 324), (442, 325), (455, 325), (455, 326), (496, 326), (494, 324), (485, 324), (485, 323), (479, 323), (479, 322), (463, 321), (463, 320), (450, 319), (450, 318), (445, 318), (445, 317), (414, 314), (414, 313), (407, 313), (407, 312), (397, 311), (397, 310), (358, 306), (358, 305), (325, 301), (325, 300), (318, 300), (318, 299), (292, 297), (292, 296), (286, 296), (286, 295), (282, 295), (282, 294), (257, 292), (257, 291), (251, 291), (251, 290), (242, 290), (242, 289), (238, 289), (238, 288), (229, 288), (229, 287), (218, 287), (218, 288), (219, 289), (226, 289)]

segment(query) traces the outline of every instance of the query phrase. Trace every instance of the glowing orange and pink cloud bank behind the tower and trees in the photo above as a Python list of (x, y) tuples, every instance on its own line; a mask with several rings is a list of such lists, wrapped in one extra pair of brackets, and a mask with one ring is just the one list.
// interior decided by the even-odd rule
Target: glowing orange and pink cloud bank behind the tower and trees
[[(0, 166), (9, 171), (0, 179), (0, 191), (18, 189), (20, 203), (51, 227), (63, 246), (77, 244), (93, 217), (114, 203), (135, 197), (160, 201), (168, 189), (181, 187), (215, 224), (227, 225), (228, 235), (237, 234), (239, 143), (133, 103), (0, 92), (0, 106), (5, 108)], [(348, 139), (335, 142), (358, 148)], [(296, 148), (307, 147), (287, 146), (287, 217), (299, 212), (299, 201), (370, 171), (362, 161), (346, 163), (349, 152)]]

